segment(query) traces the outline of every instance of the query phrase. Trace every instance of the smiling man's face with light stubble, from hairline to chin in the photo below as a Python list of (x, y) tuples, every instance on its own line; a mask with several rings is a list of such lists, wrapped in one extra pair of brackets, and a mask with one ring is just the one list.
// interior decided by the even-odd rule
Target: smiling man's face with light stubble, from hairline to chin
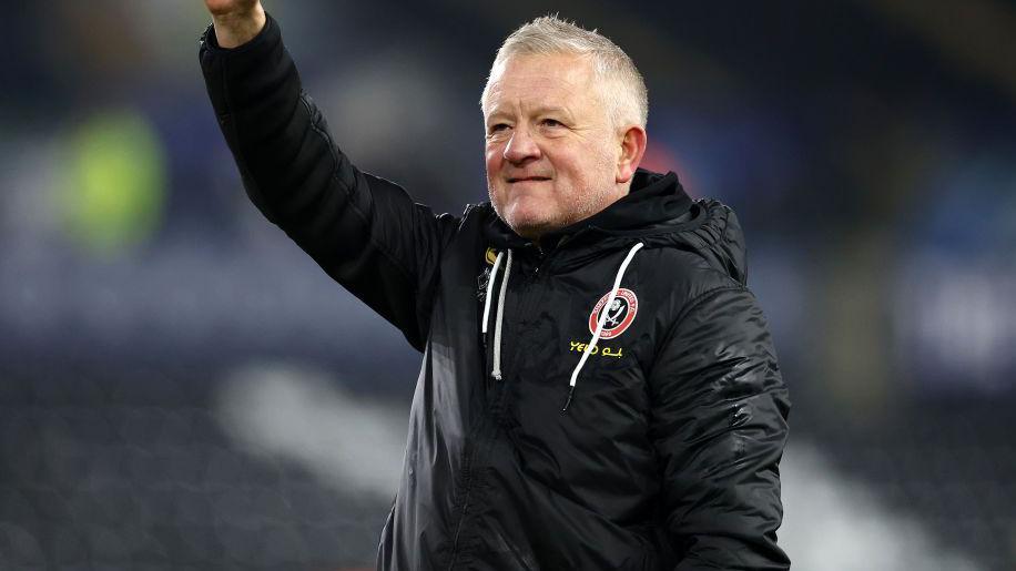
[(581, 55), (517, 55), (490, 77), (487, 188), (519, 235), (537, 238), (621, 197), (620, 140)]

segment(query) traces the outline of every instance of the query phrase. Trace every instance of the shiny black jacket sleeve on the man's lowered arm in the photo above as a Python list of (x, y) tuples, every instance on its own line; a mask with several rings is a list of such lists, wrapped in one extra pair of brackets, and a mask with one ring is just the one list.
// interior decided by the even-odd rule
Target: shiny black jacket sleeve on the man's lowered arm
[(776, 528), (790, 404), (765, 319), (741, 286), (682, 314), (650, 374), (675, 571), (789, 569)]

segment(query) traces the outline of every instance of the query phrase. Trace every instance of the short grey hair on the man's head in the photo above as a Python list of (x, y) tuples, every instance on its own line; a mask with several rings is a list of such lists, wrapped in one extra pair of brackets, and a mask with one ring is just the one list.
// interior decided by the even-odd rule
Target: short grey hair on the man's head
[[(557, 14), (542, 16), (522, 24), (501, 43), (490, 67), (494, 70), (516, 55), (577, 54), (592, 59), (598, 91), (614, 126), (638, 123), (646, 129), (649, 94), (646, 81), (631, 58), (606, 35), (586, 30)], [(480, 106), (486, 105), (490, 77)]]

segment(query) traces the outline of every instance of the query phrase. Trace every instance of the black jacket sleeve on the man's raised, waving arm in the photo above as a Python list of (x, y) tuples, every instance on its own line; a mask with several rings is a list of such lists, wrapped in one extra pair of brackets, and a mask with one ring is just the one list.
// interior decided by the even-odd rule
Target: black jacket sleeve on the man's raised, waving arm
[(220, 48), (210, 26), (199, 58), (254, 205), (421, 350), (441, 251), (458, 220), (435, 216), (396, 184), (353, 166), (303, 91), (271, 17), (235, 49)]

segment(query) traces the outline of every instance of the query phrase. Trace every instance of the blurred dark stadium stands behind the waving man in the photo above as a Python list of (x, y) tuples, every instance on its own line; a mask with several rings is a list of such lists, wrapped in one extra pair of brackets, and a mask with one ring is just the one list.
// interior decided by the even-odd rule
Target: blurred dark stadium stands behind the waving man
[[(0, 6), (0, 569), (373, 569), (419, 355), (247, 202), (203, 3)], [(646, 165), (745, 227), (794, 568), (1016, 569), (1016, 4), (266, 6), (344, 151), (438, 212), (486, 200), (500, 40), (611, 37)]]

